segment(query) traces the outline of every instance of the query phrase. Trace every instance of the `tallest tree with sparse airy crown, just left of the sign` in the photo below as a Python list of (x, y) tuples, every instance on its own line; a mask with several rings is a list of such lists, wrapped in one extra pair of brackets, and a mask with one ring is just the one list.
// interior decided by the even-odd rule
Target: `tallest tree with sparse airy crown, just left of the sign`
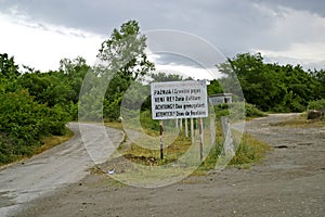
[(110, 76), (104, 100), (104, 116), (110, 120), (119, 116), (120, 103), (127, 89), (155, 68), (154, 63), (147, 60), (145, 48), (146, 37), (140, 33), (135, 21), (122, 24), (119, 30), (114, 29), (102, 43), (98, 58), (105, 67), (102, 72)]

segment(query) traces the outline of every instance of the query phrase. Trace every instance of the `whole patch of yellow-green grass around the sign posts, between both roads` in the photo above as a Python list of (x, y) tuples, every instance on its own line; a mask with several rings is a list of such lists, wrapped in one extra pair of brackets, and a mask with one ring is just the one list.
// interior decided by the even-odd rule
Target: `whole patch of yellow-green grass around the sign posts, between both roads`
[[(233, 110), (237, 107), (234, 105)], [(229, 114), (222, 106), (214, 108), (218, 119), (219, 116)], [(239, 108), (243, 108), (243, 106)], [(262, 113), (257, 114), (255, 107), (250, 111), (252, 112), (249, 112), (249, 116), (264, 115)], [(130, 181), (134, 179), (134, 183), (139, 183), (144, 177), (145, 181), (150, 182), (152, 177), (159, 176), (177, 177), (180, 174), (200, 176), (209, 170), (219, 169), (216, 165), (249, 168), (250, 165), (258, 163), (270, 150), (268, 144), (248, 135), (242, 136), (233, 131), (236, 153), (234, 157), (229, 158), (223, 153), (224, 138), (222, 137), (221, 123), (214, 123), (214, 129), (217, 130), (214, 139), (212, 139), (213, 136), (210, 130), (211, 119), (204, 118), (204, 161), (200, 161), (197, 122), (194, 124), (196, 130), (194, 131), (194, 142), (192, 143), (191, 133), (186, 138), (184, 127), (182, 130), (177, 129), (174, 120), (171, 120), (169, 123), (164, 122), (164, 159), (160, 159), (158, 122), (151, 119), (151, 114), (147, 111), (141, 114), (140, 122), (143, 131), (139, 129), (139, 126), (132, 124), (132, 119), (128, 119), (128, 123), (125, 123), (128, 126), (123, 126), (121, 123), (105, 123), (105, 126), (121, 130), (132, 129), (140, 135), (136, 141), (127, 140), (123, 142), (117, 149), (117, 154), (114, 155), (116, 157), (109, 159), (108, 167), (103, 166), (105, 167), (104, 170), (114, 168), (116, 170), (115, 176), (119, 177), (120, 180)], [(190, 129), (190, 123), (187, 124)], [(123, 127), (127, 129), (123, 129)]]

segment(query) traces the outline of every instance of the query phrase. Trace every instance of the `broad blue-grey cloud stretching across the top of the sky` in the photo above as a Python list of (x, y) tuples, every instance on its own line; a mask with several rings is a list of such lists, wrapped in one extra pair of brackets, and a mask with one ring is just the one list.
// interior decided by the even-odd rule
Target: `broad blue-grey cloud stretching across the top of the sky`
[[(286, 20), (291, 10), (325, 16), (322, 0), (2, 0), (0, 12), (15, 9), (37, 23), (47, 22), (101, 35), (128, 20), (142, 30), (177, 29), (195, 34), (233, 56), (250, 50), (286, 50), (294, 42), (324, 40), (317, 26), (300, 17)], [(295, 17), (299, 20), (299, 16)], [(282, 24), (278, 21), (286, 21)], [(290, 23), (292, 22), (292, 23)], [(170, 42), (170, 41), (169, 41)], [(188, 46), (193, 52), (195, 44)], [(204, 55), (204, 54), (202, 54)]]

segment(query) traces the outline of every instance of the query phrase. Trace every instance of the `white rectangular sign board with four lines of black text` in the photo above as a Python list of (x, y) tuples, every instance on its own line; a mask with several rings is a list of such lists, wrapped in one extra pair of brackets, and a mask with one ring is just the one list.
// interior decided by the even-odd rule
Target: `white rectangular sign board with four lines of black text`
[(205, 80), (151, 84), (153, 119), (207, 117)]

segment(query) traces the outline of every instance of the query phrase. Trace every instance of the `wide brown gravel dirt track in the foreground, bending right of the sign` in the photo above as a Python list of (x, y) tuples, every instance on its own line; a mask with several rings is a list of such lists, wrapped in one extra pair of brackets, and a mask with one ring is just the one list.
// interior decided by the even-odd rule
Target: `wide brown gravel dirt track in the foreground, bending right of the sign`
[(18, 216), (325, 216), (325, 127), (273, 125), (292, 116), (246, 124), (247, 132), (274, 146), (250, 169), (226, 168), (158, 189), (90, 175), (30, 201)]

